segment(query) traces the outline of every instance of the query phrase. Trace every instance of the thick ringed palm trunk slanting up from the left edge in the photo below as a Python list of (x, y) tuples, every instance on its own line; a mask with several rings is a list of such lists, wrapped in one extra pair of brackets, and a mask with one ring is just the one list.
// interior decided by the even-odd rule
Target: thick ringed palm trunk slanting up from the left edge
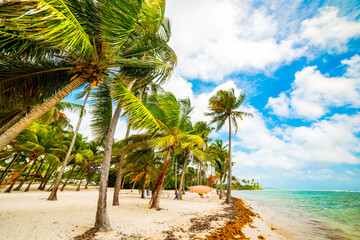
[(85, 83), (83, 78), (76, 78), (68, 85), (63, 87), (60, 91), (55, 93), (51, 98), (43, 102), (40, 106), (30, 111), (25, 117), (20, 119), (13, 126), (8, 128), (0, 135), (0, 151), (3, 150), (14, 138), (17, 137), (25, 128), (30, 126), (35, 120), (44, 115), (47, 111), (53, 108), (58, 102), (65, 98), (70, 92), (80, 87)]

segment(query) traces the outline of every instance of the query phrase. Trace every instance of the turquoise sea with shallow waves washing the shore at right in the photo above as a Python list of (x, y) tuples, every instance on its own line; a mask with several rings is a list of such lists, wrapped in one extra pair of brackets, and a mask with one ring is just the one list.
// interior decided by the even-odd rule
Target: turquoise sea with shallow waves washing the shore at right
[(263, 206), (271, 224), (291, 240), (360, 240), (360, 192), (233, 191)]

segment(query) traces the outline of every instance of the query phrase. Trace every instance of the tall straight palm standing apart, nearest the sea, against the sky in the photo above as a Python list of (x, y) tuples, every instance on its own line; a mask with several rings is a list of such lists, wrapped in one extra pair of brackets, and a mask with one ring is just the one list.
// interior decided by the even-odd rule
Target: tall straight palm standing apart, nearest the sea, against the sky
[(226, 120), (229, 124), (229, 173), (228, 173), (228, 183), (227, 183), (227, 194), (226, 194), (226, 203), (230, 203), (231, 198), (231, 123), (235, 126), (235, 133), (237, 133), (238, 125), (237, 118), (243, 120), (243, 117), (251, 116), (251, 113), (237, 111), (241, 104), (245, 100), (245, 94), (240, 94), (238, 98), (235, 96), (234, 89), (228, 91), (219, 90), (215, 96), (212, 96), (209, 100), (209, 110), (210, 113), (206, 113), (206, 116), (211, 116), (212, 120), (210, 124), (217, 123), (216, 131), (219, 131)]

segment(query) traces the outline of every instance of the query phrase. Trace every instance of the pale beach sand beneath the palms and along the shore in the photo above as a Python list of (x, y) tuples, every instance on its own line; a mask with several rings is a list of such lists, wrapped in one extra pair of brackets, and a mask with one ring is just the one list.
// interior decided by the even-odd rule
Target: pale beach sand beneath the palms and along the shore
[[(72, 239), (92, 228), (98, 198), (97, 187), (75, 191), (67, 187), (58, 193), (58, 201), (47, 201), (49, 192), (0, 192), (0, 239)], [(108, 190), (108, 211), (113, 231), (96, 233), (95, 239), (178, 239), (202, 238), (210, 228), (225, 224), (226, 204), (213, 191), (200, 198), (186, 193), (183, 201), (174, 200), (173, 191), (163, 194), (161, 211), (149, 209), (149, 199), (141, 199), (138, 190), (122, 190), (120, 206), (112, 206), (113, 189)], [(247, 202), (248, 203), (248, 202)], [(261, 218), (254, 218), (255, 228), (246, 226), (244, 233), (251, 240), (284, 239), (263, 219), (264, 214), (255, 204), (248, 203)], [(217, 215), (215, 220), (206, 221)], [(204, 223), (204, 224), (202, 224)], [(208, 225), (206, 225), (208, 224)]]

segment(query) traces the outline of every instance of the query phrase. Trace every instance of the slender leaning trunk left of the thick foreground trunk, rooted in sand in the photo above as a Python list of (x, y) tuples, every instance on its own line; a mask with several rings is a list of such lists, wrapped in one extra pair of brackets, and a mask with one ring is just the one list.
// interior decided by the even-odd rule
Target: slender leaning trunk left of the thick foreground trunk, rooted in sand
[(70, 158), (70, 155), (71, 155), (71, 152), (72, 152), (72, 149), (74, 148), (74, 145), (75, 145), (75, 140), (76, 140), (76, 136), (79, 132), (79, 128), (80, 128), (80, 125), (81, 125), (81, 121), (82, 121), (82, 117), (83, 117), (83, 112), (84, 112), (84, 109), (85, 109), (85, 105), (86, 105), (86, 102), (89, 98), (89, 95), (90, 95), (90, 91), (91, 91), (91, 88), (89, 90), (89, 92), (86, 94), (86, 97), (84, 99), (84, 103), (82, 105), (83, 109), (81, 110), (81, 113), (80, 113), (80, 117), (79, 117), (79, 120), (76, 124), (76, 128), (75, 128), (75, 131), (74, 131), (74, 136), (71, 140), (71, 143), (70, 143), (70, 146), (69, 146), (69, 149), (66, 153), (66, 157), (65, 157), (65, 160), (63, 161), (62, 165), (61, 165), (61, 169), (60, 169), (60, 172), (58, 173), (58, 175), (56, 176), (56, 179), (53, 183), (54, 185), (54, 188), (52, 189), (51, 193), (50, 193), (50, 196), (48, 197), (47, 200), (50, 200), (50, 201), (56, 201), (57, 200), (57, 190), (60, 186), (60, 182), (61, 182), (61, 178), (62, 178), (62, 175), (64, 174), (65, 172), (65, 168), (66, 166), (68, 165), (69, 163), (69, 158)]

